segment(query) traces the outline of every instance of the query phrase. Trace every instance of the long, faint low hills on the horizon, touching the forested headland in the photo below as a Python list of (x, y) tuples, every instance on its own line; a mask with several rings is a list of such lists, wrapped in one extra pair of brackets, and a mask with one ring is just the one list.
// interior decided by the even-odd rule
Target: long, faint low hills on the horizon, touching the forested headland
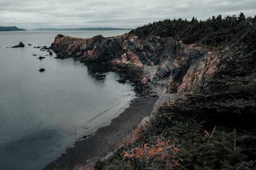
[(100, 28), (46, 28), (46, 29), (35, 29), (33, 31), (111, 31), (111, 30), (132, 30), (132, 29), (123, 29), (123, 28), (108, 28), (108, 27), (100, 27)]

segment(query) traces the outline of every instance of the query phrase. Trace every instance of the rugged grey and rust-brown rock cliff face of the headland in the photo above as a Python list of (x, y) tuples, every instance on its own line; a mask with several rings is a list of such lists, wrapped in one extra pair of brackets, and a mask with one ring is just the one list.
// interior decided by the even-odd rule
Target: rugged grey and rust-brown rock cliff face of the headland
[[(80, 57), (83, 61), (119, 60), (137, 66), (157, 66), (154, 80), (163, 80), (167, 92), (193, 89), (205, 72), (209, 54), (199, 47), (186, 45), (171, 37), (160, 38), (121, 35), (103, 38), (73, 38), (57, 35), (51, 48), (58, 58)], [(211, 58), (212, 59), (212, 58)], [(206, 75), (214, 70), (207, 69)], [(205, 76), (206, 77), (206, 76)], [(209, 77), (209, 76), (208, 76)]]

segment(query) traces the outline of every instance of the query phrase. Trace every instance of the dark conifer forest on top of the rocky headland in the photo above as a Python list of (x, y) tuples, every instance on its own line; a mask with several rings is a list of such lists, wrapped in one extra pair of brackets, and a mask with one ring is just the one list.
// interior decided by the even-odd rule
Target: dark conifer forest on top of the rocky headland
[(149, 23), (143, 27), (138, 27), (132, 30), (131, 34), (136, 34), (139, 37), (147, 35), (157, 35), (160, 37), (173, 37), (177, 40), (182, 40), (184, 43), (201, 43), (211, 46), (226, 44), (230, 41), (237, 41), (238, 37), (242, 37), (243, 42), (248, 42), (249, 50), (255, 48), (255, 26), (256, 16), (254, 18), (245, 18), (241, 13), (239, 17), (236, 15), (217, 17), (212, 16), (205, 21), (198, 21), (193, 17), (191, 21), (187, 19), (165, 19), (158, 22)]

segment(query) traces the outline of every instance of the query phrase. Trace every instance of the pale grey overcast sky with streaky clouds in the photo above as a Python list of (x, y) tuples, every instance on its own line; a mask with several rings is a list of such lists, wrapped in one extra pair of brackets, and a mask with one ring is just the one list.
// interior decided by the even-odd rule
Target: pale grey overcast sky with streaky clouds
[(0, 0), (0, 26), (136, 28), (166, 18), (256, 15), (255, 0)]

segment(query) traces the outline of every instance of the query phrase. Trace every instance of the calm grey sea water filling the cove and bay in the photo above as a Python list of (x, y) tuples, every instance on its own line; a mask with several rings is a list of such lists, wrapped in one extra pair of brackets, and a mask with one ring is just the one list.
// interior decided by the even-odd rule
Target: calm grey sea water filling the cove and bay
[[(132, 86), (119, 84), (118, 75), (102, 65), (55, 59), (33, 46), (50, 46), (56, 34), (123, 33), (0, 32), (0, 169), (41, 169), (81, 136), (108, 125), (135, 98)], [(6, 48), (19, 41), (26, 46)], [(42, 67), (45, 72), (38, 71)]]

